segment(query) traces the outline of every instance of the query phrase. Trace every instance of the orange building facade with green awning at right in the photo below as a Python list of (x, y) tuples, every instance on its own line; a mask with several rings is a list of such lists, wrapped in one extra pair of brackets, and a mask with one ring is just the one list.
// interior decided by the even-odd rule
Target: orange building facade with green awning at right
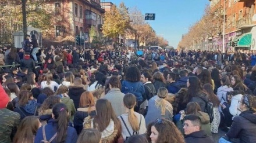
[(213, 39), (214, 49), (222, 49), (224, 35), (227, 50), (256, 50), (255, 0), (212, 0), (211, 8), (216, 7), (222, 8), (222, 16), (225, 14), (225, 33)]

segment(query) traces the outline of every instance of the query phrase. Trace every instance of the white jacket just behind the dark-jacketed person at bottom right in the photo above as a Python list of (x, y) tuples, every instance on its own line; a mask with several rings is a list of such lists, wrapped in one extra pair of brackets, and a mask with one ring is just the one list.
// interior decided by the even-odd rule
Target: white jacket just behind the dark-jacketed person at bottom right
[(240, 107), (238, 101), (241, 101), (242, 97), (242, 94), (237, 94), (236, 96), (233, 96), (231, 98), (231, 105), (229, 107), (229, 112), (231, 113), (231, 115), (240, 115), (241, 111), (239, 111)]

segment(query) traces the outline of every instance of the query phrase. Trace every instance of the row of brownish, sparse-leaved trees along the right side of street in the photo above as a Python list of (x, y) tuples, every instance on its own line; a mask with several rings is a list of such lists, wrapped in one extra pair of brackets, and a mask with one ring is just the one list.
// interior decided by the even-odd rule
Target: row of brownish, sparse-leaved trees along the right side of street
[[(213, 39), (222, 35), (223, 30), (223, 6), (218, 3), (213, 8), (207, 5), (201, 20), (189, 27), (189, 32), (182, 36), (178, 49), (198, 49), (195, 45), (202, 48), (207, 43), (207, 50), (213, 50)], [(228, 26), (228, 25), (226, 25)], [(199, 49), (200, 49), (199, 48)]]

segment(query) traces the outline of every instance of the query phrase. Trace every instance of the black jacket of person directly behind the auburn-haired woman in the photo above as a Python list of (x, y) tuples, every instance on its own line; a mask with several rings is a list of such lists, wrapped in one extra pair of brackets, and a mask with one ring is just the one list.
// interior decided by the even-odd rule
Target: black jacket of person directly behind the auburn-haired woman
[(74, 107), (79, 108), (81, 94), (86, 91), (83, 85), (81, 86), (69, 86), (69, 97), (74, 101)]

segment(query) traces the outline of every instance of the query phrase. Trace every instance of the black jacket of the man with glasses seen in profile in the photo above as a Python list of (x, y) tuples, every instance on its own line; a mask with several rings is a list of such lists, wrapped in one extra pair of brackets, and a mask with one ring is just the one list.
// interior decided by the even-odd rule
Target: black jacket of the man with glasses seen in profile
[(185, 141), (186, 143), (214, 143), (212, 137), (209, 137), (203, 130), (186, 135)]

